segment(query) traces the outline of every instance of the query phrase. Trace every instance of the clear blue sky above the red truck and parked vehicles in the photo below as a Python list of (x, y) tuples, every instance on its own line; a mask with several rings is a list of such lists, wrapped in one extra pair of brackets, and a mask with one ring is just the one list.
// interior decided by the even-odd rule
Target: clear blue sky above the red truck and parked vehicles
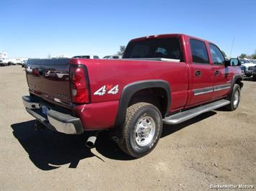
[(256, 1), (0, 1), (0, 51), (9, 57), (115, 54), (129, 39), (184, 33), (232, 57), (256, 50)]

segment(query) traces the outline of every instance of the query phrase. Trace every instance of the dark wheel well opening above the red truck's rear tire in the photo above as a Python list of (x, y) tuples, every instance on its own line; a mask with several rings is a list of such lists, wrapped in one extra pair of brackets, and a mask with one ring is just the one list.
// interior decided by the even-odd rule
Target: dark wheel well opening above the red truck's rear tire
[(151, 103), (162, 113), (164, 118), (167, 112), (168, 96), (164, 88), (147, 88), (144, 90), (138, 90), (133, 94), (128, 106), (131, 106), (135, 103), (146, 102)]

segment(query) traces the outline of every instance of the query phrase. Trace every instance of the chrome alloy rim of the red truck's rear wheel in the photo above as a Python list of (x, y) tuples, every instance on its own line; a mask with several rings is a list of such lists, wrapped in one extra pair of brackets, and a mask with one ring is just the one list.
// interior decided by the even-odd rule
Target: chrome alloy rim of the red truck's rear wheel
[(139, 146), (150, 144), (156, 132), (156, 123), (150, 116), (144, 116), (136, 124), (134, 138)]

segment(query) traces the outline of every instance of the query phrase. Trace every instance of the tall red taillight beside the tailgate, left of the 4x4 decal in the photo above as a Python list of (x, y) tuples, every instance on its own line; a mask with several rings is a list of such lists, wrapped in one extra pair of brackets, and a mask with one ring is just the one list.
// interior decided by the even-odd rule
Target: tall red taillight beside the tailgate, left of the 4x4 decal
[(71, 65), (70, 88), (72, 102), (89, 103), (89, 82), (85, 66)]

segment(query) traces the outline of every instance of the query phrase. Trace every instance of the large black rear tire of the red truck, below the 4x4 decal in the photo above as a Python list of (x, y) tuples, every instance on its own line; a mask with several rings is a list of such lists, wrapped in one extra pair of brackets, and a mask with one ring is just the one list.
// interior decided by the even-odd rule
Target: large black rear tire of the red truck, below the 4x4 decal
[[(141, 136), (144, 133), (136, 133), (138, 132), (138, 126), (143, 124), (144, 121), (146, 124), (150, 123), (151, 127), (149, 131), (146, 131), (145, 134), (149, 134), (148, 137), (145, 139), (149, 141), (148, 144), (141, 145), (143, 141), (138, 143), (137, 139), (143, 140)], [(155, 128), (152, 128), (154, 126)], [(137, 127), (137, 128), (136, 128)], [(146, 127), (147, 128), (147, 127)], [(154, 129), (154, 130), (153, 130)], [(150, 103), (136, 103), (130, 106), (126, 112), (125, 123), (123, 124), (123, 139), (118, 144), (120, 149), (123, 150), (128, 155), (131, 155), (135, 158), (144, 157), (146, 154), (149, 154), (156, 144), (158, 143), (160, 136), (162, 134), (162, 115), (156, 106)]]

